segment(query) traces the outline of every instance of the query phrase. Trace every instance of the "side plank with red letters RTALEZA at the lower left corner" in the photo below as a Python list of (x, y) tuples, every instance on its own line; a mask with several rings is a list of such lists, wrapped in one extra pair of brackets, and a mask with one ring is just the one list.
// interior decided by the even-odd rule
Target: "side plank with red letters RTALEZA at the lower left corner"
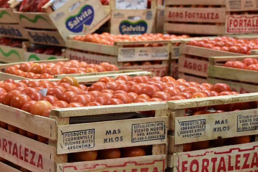
[(56, 151), (54, 147), (3, 128), (0, 128), (0, 136), (2, 143), (0, 157), (30, 171), (54, 171)]

